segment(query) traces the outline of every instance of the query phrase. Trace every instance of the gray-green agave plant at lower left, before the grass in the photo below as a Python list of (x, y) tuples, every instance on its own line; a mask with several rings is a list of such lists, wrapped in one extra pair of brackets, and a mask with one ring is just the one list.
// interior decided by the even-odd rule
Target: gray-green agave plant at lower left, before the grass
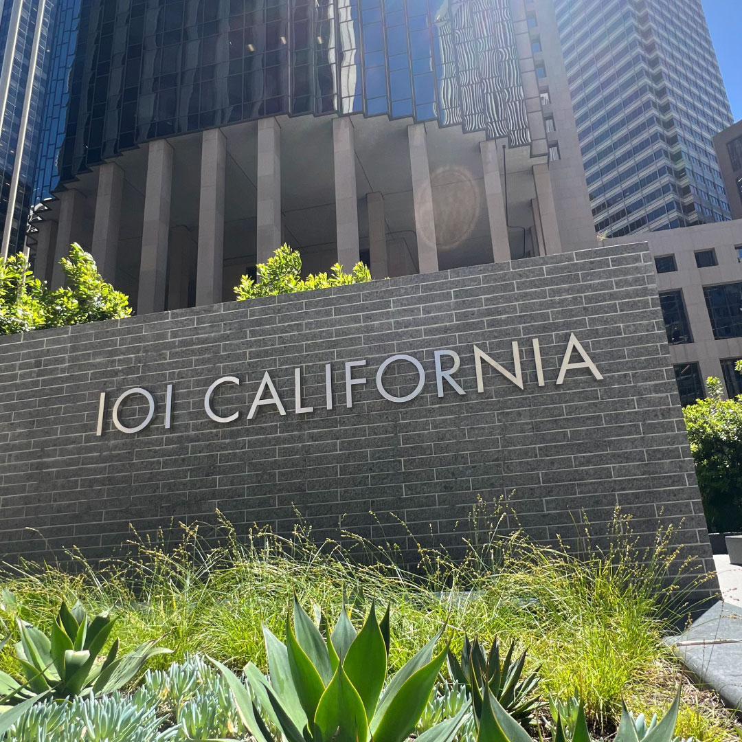
[(119, 657), (119, 640), (116, 640), (108, 654), (99, 657), (114, 623), (115, 619), (108, 614), (89, 620), (80, 603), (71, 609), (62, 603), (49, 637), (19, 620), (21, 640), (16, 644), (16, 657), (25, 683), (0, 672), (0, 694), (7, 695), (11, 704), (30, 694), (53, 698), (106, 694), (128, 683), (150, 657), (170, 652), (155, 646), (157, 640), (152, 640)]

